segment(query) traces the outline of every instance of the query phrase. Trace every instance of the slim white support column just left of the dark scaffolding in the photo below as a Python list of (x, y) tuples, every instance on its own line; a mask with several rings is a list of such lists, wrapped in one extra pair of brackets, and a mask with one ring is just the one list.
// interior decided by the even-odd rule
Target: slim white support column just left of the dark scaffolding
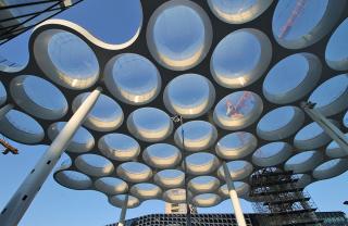
[(237, 194), (237, 191), (235, 189), (235, 186), (233, 185), (232, 177), (231, 177), (231, 174), (229, 174), (229, 171), (228, 171), (228, 167), (227, 167), (227, 164), (226, 164), (225, 161), (223, 161), (222, 167), (224, 170), (225, 180), (226, 180), (226, 184), (227, 184), (227, 188), (228, 188), (228, 193), (229, 193), (229, 198), (231, 198), (231, 201), (232, 201), (232, 205), (233, 205), (233, 209), (235, 211), (235, 216), (236, 216), (236, 219), (237, 219), (237, 224), (238, 224), (238, 226), (247, 226), (247, 223), (246, 223), (246, 219), (244, 217), (244, 213), (243, 213), (243, 210), (241, 210), (241, 206), (240, 206), (240, 202), (239, 202), (239, 199), (238, 199), (238, 194)]

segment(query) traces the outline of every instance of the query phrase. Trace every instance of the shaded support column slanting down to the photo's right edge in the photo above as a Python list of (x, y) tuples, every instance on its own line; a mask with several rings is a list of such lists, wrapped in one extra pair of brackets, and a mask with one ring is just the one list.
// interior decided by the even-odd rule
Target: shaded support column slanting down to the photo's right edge
[(303, 102), (301, 103), (304, 112), (320, 125), (323, 130), (337, 142), (337, 145), (348, 153), (348, 138), (339, 128), (337, 128), (332, 122), (330, 122), (322, 113), (314, 109), (314, 103)]

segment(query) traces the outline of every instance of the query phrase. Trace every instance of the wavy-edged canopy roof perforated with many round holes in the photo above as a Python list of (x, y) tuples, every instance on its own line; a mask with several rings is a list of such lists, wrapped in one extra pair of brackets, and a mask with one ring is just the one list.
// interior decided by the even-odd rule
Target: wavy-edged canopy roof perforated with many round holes
[[(23, 68), (0, 65), (0, 133), (50, 145), (89, 92), (103, 91), (54, 173), (128, 208), (160, 199), (213, 206), (262, 167), (293, 171), (300, 186), (338, 176), (348, 154), (301, 110), (348, 131), (346, 0), (141, 1), (142, 23), (120, 45), (50, 20), (29, 39)], [(107, 27), (111, 28), (111, 27)], [(179, 124), (177, 115), (183, 117)], [(183, 164), (186, 162), (186, 172)]]

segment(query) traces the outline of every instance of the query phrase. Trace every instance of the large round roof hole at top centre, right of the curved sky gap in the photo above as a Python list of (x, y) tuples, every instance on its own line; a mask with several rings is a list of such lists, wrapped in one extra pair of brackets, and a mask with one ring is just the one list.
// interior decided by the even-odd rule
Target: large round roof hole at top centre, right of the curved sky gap
[(163, 3), (147, 27), (147, 43), (152, 56), (164, 67), (184, 71), (199, 64), (212, 41), (207, 13), (188, 0)]

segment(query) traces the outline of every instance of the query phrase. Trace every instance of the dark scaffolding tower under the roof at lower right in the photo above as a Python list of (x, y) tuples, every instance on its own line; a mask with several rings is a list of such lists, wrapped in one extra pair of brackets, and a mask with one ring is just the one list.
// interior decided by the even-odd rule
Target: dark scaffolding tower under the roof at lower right
[(293, 172), (276, 167), (257, 171), (250, 178), (250, 198), (263, 226), (321, 226), (316, 206)]

